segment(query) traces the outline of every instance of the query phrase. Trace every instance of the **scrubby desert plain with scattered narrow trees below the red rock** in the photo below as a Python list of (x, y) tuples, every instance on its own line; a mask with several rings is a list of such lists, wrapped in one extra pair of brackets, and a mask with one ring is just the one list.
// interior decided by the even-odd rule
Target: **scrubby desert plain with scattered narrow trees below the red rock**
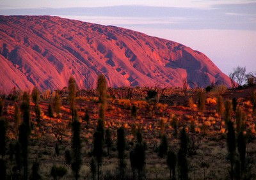
[(256, 87), (12, 89), (0, 179), (256, 179)]

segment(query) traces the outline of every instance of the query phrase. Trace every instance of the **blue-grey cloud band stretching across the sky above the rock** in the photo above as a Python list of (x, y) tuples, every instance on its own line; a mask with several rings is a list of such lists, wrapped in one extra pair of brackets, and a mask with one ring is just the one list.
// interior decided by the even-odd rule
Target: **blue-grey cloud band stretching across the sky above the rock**
[(2, 15), (58, 15), (122, 27), (167, 29), (234, 29), (256, 31), (256, 3), (217, 4), (210, 8), (108, 6), (0, 10)]

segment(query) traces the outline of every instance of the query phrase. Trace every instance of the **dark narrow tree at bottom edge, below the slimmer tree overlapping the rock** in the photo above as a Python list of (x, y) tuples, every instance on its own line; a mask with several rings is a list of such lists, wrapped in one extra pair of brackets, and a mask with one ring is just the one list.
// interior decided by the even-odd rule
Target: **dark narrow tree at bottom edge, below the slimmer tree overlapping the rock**
[(79, 170), (82, 165), (81, 158), (81, 123), (74, 121), (72, 123), (72, 170), (76, 179), (79, 177)]

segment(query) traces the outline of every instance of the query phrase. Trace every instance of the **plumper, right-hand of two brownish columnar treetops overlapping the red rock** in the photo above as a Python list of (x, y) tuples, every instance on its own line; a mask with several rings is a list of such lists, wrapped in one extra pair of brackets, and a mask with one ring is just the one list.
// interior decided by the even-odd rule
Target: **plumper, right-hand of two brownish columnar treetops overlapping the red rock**
[(106, 77), (102, 74), (98, 76), (97, 80), (97, 94), (99, 96), (99, 102), (105, 107), (107, 101), (107, 89), (108, 84)]

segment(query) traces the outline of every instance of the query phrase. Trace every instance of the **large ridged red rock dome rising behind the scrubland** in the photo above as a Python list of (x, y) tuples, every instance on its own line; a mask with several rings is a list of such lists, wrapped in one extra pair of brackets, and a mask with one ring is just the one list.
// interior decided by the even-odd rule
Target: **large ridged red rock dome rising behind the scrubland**
[(108, 85), (230, 86), (201, 52), (113, 26), (50, 16), (0, 16), (0, 89), (58, 89), (72, 75), (80, 88)]

